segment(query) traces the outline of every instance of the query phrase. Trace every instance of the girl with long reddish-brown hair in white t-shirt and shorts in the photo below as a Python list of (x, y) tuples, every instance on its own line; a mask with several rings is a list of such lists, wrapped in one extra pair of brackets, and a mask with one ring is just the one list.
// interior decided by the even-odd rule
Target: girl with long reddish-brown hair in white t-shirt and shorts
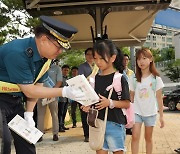
[(153, 149), (152, 134), (159, 111), (160, 127), (164, 127), (162, 88), (164, 84), (155, 68), (149, 49), (136, 52), (136, 79), (130, 80), (131, 101), (134, 102), (135, 125), (132, 131), (132, 154), (138, 154), (142, 123), (145, 125), (146, 154)]

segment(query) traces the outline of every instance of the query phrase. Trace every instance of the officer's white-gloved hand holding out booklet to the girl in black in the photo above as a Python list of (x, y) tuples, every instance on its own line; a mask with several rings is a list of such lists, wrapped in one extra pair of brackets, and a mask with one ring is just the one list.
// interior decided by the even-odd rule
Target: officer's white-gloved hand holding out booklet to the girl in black
[(72, 99), (72, 100), (74, 100), (76, 102), (86, 100), (84, 93), (75, 91), (70, 86), (63, 87), (63, 89), (62, 89), (62, 97), (67, 97), (67, 98)]

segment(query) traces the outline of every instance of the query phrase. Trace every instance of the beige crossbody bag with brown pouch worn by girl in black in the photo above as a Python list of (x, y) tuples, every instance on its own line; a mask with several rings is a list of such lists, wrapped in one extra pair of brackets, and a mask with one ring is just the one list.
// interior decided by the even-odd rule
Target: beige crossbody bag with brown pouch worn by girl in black
[[(113, 88), (109, 92), (108, 99), (111, 98)], [(88, 112), (87, 123), (89, 124), (89, 146), (92, 150), (100, 150), (104, 144), (108, 107), (106, 107), (104, 120), (98, 119), (98, 110), (91, 109)]]

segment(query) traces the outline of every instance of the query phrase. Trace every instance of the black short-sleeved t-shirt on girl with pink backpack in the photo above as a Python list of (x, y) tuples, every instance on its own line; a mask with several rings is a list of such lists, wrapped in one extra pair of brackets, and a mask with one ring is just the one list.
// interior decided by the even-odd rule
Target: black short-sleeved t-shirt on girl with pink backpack
[[(97, 94), (101, 94), (102, 96), (108, 98), (109, 91), (106, 91), (106, 88), (112, 84), (113, 77), (115, 73), (109, 74), (109, 75), (96, 75), (95, 77), (95, 91)], [(121, 86), (122, 86), (122, 92), (121, 92), (121, 100), (130, 100), (129, 96), (129, 86), (127, 83), (127, 80), (125, 79), (124, 76), (121, 78)], [(118, 94), (116, 91), (113, 89), (112, 95), (111, 95), (112, 100), (119, 100), (118, 99)], [(104, 115), (105, 115), (105, 108), (102, 110), (99, 110), (99, 115), (98, 118), (104, 120)], [(124, 116), (122, 110), (120, 108), (113, 108), (113, 109), (108, 109), (108, 121), (116, 122), (119, 124), (126, 124), (126, 117)]]

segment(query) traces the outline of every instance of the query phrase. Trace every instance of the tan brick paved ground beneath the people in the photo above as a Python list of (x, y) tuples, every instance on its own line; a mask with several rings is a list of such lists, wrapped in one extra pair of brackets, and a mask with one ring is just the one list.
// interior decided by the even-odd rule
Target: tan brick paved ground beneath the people
[[(165, 111), (164, 119), (166, 126), (159, 128), (159, 124), (154, 129), (154, 150), (153, 154), (175, 154), (174, 149), (180, 148), (180, 111)], [(69, 126), (71, 127), (71, 126)], [(145, 154), (145, 141), (143, 133), (140, 140), (139, 154)], [(95, 154), (88, 143), (83, 142), (83, 131), (81, 123), (77, 128), (70, 128), (65, 133), (60, 133), (59, 141), (52, 141), (52, 134), (47, 132), (43, 136), (43, 141), (36, 144), (37, 154)], [(126, 154), (131, 154), (131, 136), (126, 139)], [(15, 154), (14, 148), (12, 154)]]

